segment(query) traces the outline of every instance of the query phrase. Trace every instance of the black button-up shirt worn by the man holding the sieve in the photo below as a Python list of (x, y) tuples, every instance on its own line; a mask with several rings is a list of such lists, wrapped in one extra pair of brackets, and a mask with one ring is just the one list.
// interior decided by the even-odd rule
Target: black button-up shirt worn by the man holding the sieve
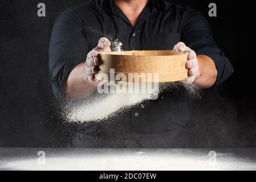
[[(151, 0), (133, 27), (127, 16), (112, 1), (88, 1), (60, 14), (52, 31), (49, 51), (50, 84), (57, 98), (62, 96), (72, 69), (86, 60), (87, 53), (97, 46), (103, 36), (109, 40), (118, 39), (123, 43), (124, 51), (173, 49), (181, 41), (197, 55), (207, 55), (213, 59), (218, 71), (215, 85), (225, 81), (233, 73), (229, 60), (214, 43), (208, 22), (189, 7)], [(180, 84), (178, 87), (162, 93), (158, 100), (148, 101), (143, 109), (135, 108), (124, 113), (124, 117), (116, 119), (121, 122), (114, 122), (119, 128), (115, 132), (102, 123), (84, 123), (79, 127), (80, 137), (77, 137), (81, 139), (85, 133), (119, 138), (124, 133), (155, 135), (185, 127), (190, 120), (192, 104), (188, 94), (181, 94), (185, 92), (185, 86)], [(135, 116), (135, 113), (139, 115)]]

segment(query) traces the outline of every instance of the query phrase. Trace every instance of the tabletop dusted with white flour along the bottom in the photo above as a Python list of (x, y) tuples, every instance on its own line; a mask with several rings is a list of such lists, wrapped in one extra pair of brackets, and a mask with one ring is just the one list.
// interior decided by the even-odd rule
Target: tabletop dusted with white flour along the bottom
[(0, 170), (256, 170), (256, 148), (0, 148)]

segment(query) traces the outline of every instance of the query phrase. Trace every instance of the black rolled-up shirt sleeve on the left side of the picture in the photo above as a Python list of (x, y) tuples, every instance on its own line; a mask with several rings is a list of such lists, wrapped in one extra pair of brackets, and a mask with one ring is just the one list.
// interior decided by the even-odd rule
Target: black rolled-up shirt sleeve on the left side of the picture
[(86, 60), (88, 42), (72, 10), (61, 13), (54, 24), (49, 48), (49, 81), (56, 98), (64, 94), (70, 72)]

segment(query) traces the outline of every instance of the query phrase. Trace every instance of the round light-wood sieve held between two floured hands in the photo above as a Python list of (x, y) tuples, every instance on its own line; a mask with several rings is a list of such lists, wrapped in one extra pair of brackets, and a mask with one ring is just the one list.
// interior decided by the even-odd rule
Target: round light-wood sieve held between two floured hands
[[(111, 69), (115, 69), (115, 75), (124, 73), (127, 78), (129, 74), (137, 73), (137, 75), (148, 77), (151, 73), (157, 73), (159, 82), (180, 81), (188, 78), (188, 69), (185, 66), (188, 52), (179, 53), (174, 50), (103, 52), (99, 53), (99, 60), (100, 71), (96, 75), (96, 79), (99, 80), (101, 80), (100, 73), (109, 76), (113, 73)], [(155, 81), (152, 80), (152, 82)]]

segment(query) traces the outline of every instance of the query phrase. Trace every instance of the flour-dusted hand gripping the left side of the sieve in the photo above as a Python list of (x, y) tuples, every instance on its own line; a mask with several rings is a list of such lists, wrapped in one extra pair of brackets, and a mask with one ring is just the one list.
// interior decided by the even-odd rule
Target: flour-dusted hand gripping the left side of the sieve
[(97, 86), (99, 81), (95, 79), (95, 74), (99, 72), (99, 59), (98, 59), (98, 53), (99, 52), (110, 52), (110, 45), (111, 42), (107, 38), (100, 38), (99, 44), (97, 47), (92, 49), (87, 54), (86, 59), (86, 75), (87, 75), (87, 81), (90, 82), (92, 85)]

